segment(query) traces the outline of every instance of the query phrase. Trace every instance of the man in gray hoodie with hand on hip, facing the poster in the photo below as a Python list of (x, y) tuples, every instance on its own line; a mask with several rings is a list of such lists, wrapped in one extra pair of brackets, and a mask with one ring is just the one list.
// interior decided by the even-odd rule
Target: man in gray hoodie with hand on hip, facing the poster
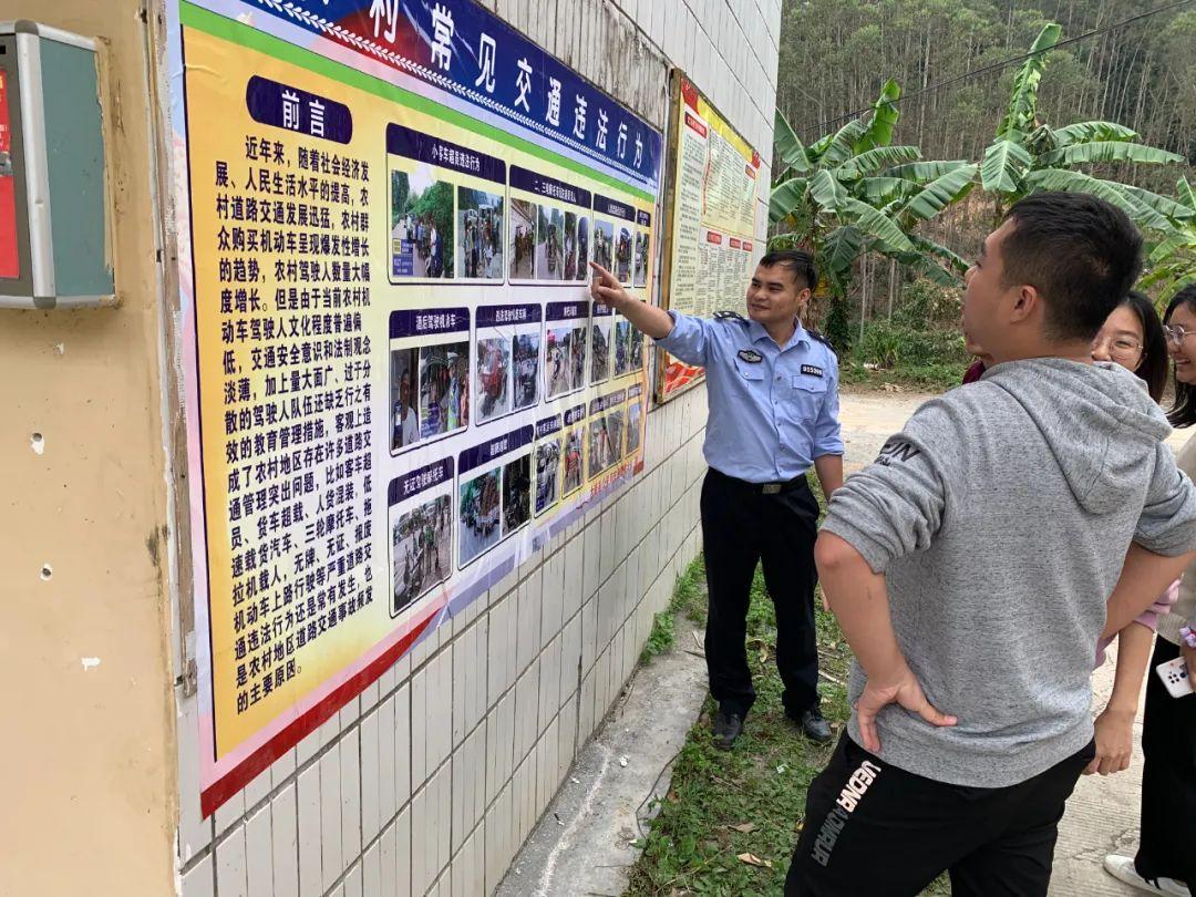
[(816, 557), (855, 652), (854, 709), (787, 893), (916, 895), (944, 869), (956, 897), (1046, 893), (1093, 756), (1097, 639), (1196, 548), (1166, 419), (1091, 358), (1140, 258), (1102, 200), (1013, 206), (966, 277), (964, 325), (994, 365), (835, 493)]

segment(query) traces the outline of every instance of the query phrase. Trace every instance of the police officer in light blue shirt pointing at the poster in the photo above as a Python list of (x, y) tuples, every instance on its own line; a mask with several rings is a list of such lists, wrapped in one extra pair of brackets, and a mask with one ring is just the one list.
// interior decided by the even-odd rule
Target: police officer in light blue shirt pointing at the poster
[(748, 652), (748, 605), (756, 565), (776, 608), (776, 666), (786, 715), (806, 737), (830, 740), (818, 703), (814, 537), (818, 501), (806, 484), (813, 465), (823, 494), (843, 483), (838, 361), (799, 318), (817, 282), (811, 257), (769, 252), (748, 287), (748, 318), (714, 319), (664, 311), (634, 299), (597, 264), (591, 295), (657, 344), (706, 367), (709, 419), (703, 453), (702, 539), (709, 615), (706, 665), (719, 702), (715, 744), (730, 749), (756, 700)]

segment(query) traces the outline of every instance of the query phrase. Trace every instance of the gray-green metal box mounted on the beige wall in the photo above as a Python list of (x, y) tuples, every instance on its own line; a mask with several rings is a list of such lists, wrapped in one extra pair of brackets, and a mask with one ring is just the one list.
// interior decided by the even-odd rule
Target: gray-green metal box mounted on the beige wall
[(0, 22), (0, 307), (115, 301), (96, 43)]

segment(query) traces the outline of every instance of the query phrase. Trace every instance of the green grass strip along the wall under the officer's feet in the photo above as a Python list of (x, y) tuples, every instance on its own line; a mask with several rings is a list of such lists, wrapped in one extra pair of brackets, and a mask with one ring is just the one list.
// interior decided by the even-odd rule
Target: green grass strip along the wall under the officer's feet
[[(822, 504), (817, 487), (814, 494)], [(698, 559), (678, 579), (670, 609), (704, 617), (703, 580)], [(822, 610), (820, 593), (816, 623), (819, 665), (832, 677), (819, 683), (823, 714), (837, 739), (849, 713), (846, 683), (852, 654), (835, 617)], [(776, 614), (757, 570), (748, 611), (756, 704), (734, 750), (720, 751), (710, 736), (716, 708), (707, 697), (673, 765), (660, 812), (641, 842), (642, 854), (630, 868), (624, 892), (629, 897), (782, 893), (801, 831), (806, 788), (830, 759), (834, 742), (814, 744), (786, 719), (775, 651)], [(749, 865), (738, 859), (740, 854), (770, 866)], [(950, 889), (935, 883), (926, 893), (947, 895)]]

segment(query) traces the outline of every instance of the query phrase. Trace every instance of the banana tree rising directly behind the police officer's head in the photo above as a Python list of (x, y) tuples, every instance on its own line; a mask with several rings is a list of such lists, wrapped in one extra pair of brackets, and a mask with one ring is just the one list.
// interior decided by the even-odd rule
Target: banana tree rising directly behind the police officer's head
[[(813, 250), (830, 287), (831, 321), (841, 324), (853, 267), (865, 252), (896, 258), (947, 285), (966, 268), (954, 252), (913, 230), (963, 199), (977, 166), (926, 161), (916, 146), (891, 145), (899, 98), (897, 83), (886, 83), (867, 122), (849, 121), (808, 147), (776, 112), (779, 176), (769, 219), (779, 233), (773, 245)], [(846, 325), (828, 330), (832, 340), (847, 342)]]

